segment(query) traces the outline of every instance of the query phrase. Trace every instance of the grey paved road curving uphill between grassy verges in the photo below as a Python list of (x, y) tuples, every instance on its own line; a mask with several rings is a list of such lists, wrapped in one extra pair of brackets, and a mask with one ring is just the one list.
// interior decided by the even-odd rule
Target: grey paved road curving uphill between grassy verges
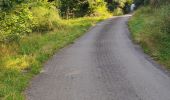
[(28, 100), (170, 100), (170, 77), (130, 40), (127, 21), (98, 23), (54, 55)]

